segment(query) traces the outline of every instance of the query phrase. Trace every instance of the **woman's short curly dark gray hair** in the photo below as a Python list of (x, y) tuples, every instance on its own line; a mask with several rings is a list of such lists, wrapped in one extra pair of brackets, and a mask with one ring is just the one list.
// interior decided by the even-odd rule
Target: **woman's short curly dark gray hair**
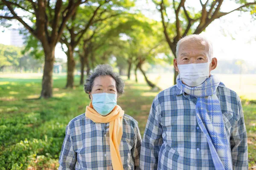
[[(96, 77), (105, 77), (105, 76), (113, 77), (113, 79), (116, 81), (117, 95), (121, 96), (124, 93), (125, 83), (122, 80), (122, 78), (119, 76), (119, 74), (114, 72), (113, 68), (108, 64), (97, 65), (97, 67), (94, 69), (94, 72), (90, 74), (89, 77), (87, 77), (84, 83), (85, 93), (89, 94), (92, 91), (94, 79)], [(89, 95), (89, 98), (90, 98), (90, 95)]]

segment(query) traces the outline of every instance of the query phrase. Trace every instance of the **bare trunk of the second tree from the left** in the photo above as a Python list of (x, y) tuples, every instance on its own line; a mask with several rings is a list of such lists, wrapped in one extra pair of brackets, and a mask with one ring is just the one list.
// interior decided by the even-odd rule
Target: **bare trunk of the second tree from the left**
[(73, 50), (68, 49), (67, 52), (68, 52), (68, 55), (67, 55), (67, 84), (66, 84), (66, 88), (73, 88), (74, 87), (74, 71), (75, 71), (76, 62), (73, 57)]

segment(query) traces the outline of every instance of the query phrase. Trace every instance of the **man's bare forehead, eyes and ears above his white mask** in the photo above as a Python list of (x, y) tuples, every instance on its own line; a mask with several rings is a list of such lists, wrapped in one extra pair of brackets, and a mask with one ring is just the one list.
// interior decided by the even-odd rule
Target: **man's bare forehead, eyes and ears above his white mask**
[[(184, 41), (179, 46), (179, 53), (177, 59), (174, 59), (174, 67), (176, 71), (179, 71), (177, 64), (197, 64), (210, 62), (208, 56), (209, 47), (204, 43), (193, 43), (191, 41)], [(209, 65), (209, 72), (215, 69), (217, 66), (217, 59), (212, 58), (212, 61)]]

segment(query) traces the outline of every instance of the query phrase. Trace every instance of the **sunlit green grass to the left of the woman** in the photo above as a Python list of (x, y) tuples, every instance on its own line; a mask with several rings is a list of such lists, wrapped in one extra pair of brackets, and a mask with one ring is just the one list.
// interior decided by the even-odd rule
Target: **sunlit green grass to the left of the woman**
[[(3, 170), (49, 168), (52, 163), (56, 169), (67, 123), (84, 112), (81, 101), (89, 102), (82, 87), (75, 93), (66, 91), (62, 89), (64, 77), (58, 78), (54, 82), (58, 93), (49, 100), (26, 99), (40, 90), (40, 79), (0, 80), (0, 167)], [(10, 95), (17, 101), (9, 102)]]

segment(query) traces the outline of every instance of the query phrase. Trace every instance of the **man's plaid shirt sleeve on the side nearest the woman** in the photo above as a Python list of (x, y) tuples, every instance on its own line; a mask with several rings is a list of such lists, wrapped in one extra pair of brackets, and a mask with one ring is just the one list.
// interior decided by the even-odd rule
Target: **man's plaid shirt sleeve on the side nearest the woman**
[(153, 102), (140, 151), (140, 168), (142, 170), (157, 170), (159, 150), (163, 143), (162, 132), (158, 111)]

